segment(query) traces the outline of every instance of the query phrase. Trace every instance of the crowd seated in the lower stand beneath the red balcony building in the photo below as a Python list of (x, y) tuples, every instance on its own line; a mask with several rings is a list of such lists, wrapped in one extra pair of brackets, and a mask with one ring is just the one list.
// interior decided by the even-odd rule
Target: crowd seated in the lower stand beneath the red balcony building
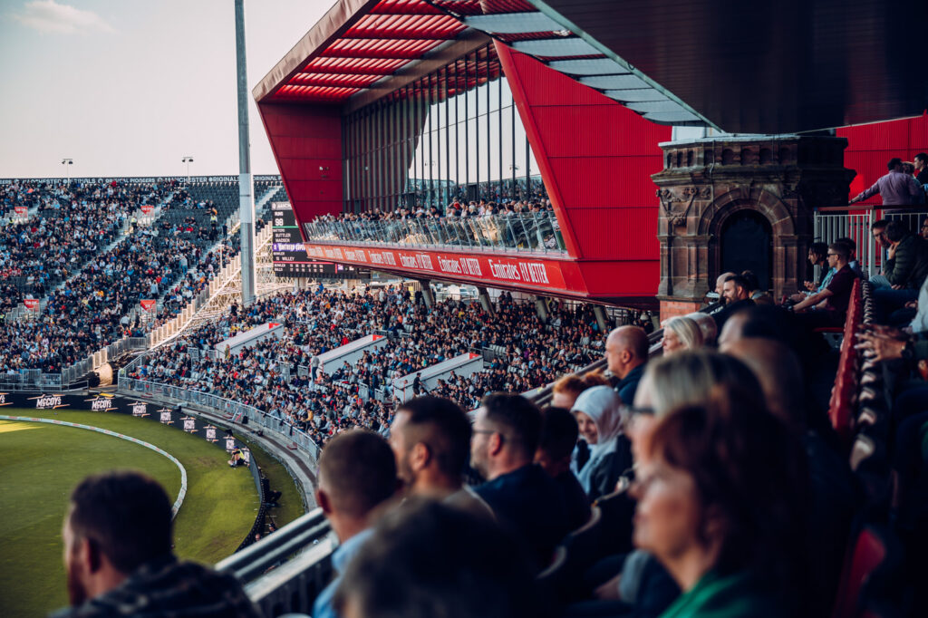
[[(237, 354), (214, 350), (267, 322), (282, 323), (284, 334)], [(398, 403), (394, 387), (406, 386), (397, 380), (472, 350), (488, 348), (495, 358), (470, 376), (439, 380), (432, 393), (472, 409), (485, 393), (543, 386), (601, 354), (598, 328), (588, 307), (552, 304), (543, 322), (535, 303), (513, 301), (509, 294), (488, 315), (479, 304), (456, 300), (429, 307), (405, 290), (346, 294), (320, 287), (273, 296), (245, 311), (233, 305), (226, 315), (148, 354), (130, 377), (255, 406), (324, 444), (354, 426), (384, 430)], [(377, 332), (388, 341), (353, 365), (318, 370), (319, 354)]]

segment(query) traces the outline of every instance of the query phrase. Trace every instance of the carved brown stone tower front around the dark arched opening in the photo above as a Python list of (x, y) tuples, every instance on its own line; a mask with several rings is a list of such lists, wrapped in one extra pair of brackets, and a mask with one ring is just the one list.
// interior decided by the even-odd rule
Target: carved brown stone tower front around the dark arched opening
[[(651, 178), (661, 203), (661, 317), (700, 303), (715, 290), (726, 222), (753, 211), (767, 230), (774, 298), (806, 276), (813, 209), (847, 203), (854, 177), (844, 168), (847, 141), (819, 136), (728, 136), (668, 142), (664, 170)], [(666, 314), (666, 315), (665, 315)]]

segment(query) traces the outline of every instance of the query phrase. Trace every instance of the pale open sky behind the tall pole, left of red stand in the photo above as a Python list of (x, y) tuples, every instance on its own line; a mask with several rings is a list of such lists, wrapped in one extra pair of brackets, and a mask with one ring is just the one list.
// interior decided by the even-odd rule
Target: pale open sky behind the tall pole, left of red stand
[[(334, 0), (245, 0), (251, 88)], [(0, 178), (238, 174), (233, 0), (0, 0)]]

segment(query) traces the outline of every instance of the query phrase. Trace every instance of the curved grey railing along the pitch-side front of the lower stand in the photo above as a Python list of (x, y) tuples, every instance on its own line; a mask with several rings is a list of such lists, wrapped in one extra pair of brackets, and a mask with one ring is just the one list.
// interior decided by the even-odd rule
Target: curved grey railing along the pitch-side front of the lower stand
[(134, 378), (120, 376), (117, 383), (121, 391), (141, 393), (152, 397), (168, 397), (176, 401), (211, 408), (243, 424), (259, 425), (264, 430), (276, 433), (281, 440), (296, 444), (298, 448), (312, 457), (313, 461), (316, 461), (319, 457), (319, 445), (316, 444), (312, 437), (287, 418), (282, 418), (277, 414), (264, 412), (264, 410), (257, 407), (248, 406), (212, 393), (202, 393), (170, 384), (161, 384), (160, 382), (135, 380)]

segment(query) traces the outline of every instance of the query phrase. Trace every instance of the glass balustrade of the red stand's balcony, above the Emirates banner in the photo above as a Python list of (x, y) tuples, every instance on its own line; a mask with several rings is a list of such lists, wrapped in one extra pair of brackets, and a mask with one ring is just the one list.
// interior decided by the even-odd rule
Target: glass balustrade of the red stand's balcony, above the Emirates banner
[(439, 219), (316, 221), (303, 224), (307, 240), (479, 251), (565, 253), (553, 212), (485, 214)]

